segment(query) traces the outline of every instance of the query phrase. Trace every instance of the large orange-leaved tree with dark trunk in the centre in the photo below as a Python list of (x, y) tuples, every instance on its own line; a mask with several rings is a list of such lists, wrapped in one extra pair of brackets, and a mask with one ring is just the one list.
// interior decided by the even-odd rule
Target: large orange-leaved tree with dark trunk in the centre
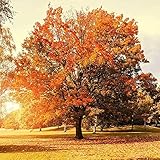
[(135, 20), (101, 8), (72, 17), (62, 11), (49, 7), (44, 22), (37, 22), (25, 39), (14, 86), (56, 97), (57, 106), (75, 120), (81, 139), (88, 107), (108, 112), (131, 104), (146, 59)]

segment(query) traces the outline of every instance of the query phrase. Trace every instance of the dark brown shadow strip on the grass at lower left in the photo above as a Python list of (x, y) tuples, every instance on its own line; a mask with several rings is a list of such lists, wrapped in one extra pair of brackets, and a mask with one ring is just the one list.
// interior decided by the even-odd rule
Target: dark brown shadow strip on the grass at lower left
[(1, 145), (0, 153), (55, 151), (53, 147), (38, 145)]

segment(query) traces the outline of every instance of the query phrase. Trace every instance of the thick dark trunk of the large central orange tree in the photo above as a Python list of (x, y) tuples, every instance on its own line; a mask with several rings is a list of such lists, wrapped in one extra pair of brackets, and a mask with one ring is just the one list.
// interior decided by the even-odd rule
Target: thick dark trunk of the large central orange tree
[(82, 125), (82, 116), (80, 116), (76, 119), (76, 136), (75, 136), (75, 138), (77, 138), (77, 139), (83, 139), (81, 125)]

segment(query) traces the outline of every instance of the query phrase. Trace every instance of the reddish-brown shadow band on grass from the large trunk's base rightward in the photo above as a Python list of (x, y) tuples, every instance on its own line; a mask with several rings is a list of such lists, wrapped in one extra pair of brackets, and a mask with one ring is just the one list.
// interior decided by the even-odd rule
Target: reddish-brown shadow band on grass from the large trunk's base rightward
[[(158, 142), (160, 141), (160, 136), (105, 136), (105, 137), (91, 137), (85, 136), (84, 139), (78, 140), (74, 137), (72, 138), (55, 138), (55, 139), (43, 139), (44, 141), (41, 142), (41, 139), (35, 139), (34, 143), (43, 143), (43, 145), (51, 144), (57, 149), (57, 146), (63, 146), (68, 149), (67, 146), (86, 146), (86, 145), (100, 145), (100, 144), (129, 144), (129, 143), (145, 143), (145, 142)], [(70, 148), (70, 147), (69, 147)], [(79, 148), (79, 147), (78, 147)], [(82, 147), (83, 148), (83, 147)], [(58, 147), (59, 149), (59, 147)]]

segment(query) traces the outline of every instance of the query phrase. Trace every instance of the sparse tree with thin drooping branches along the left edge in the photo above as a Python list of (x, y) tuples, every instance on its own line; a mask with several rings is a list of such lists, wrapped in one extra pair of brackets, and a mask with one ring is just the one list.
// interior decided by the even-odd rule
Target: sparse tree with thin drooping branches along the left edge
[[(13, 19), (13, 10), (8, 0), (0, 0), (0, 109), (9, 89), (14, 62), (12, 51), (15, 49), (10, 29), (3, 25)], [(6, 78), (8, 77), (8, 78)]]

